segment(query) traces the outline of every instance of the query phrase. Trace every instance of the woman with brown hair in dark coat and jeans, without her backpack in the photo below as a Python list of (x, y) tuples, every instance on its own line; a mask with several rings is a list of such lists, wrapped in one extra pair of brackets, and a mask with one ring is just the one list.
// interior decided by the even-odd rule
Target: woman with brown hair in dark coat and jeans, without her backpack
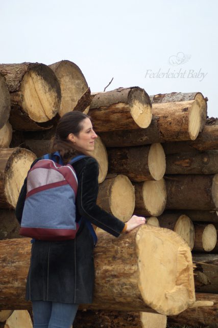
[[(58, 122), (53, 152), (58, 151), (66, 164), (79, 154), (93, 151), (95, 138), (97, 135), (89, 116), (81, 112), (69, 112)], [(82, 217), (76, 238), (65, 241), (34, 240), (32, 245), (26, 299), (32, 301), (34, 328), (69, 328), (78, 305), (92, 302), (94, 241), (90, 222), (118, 237), (146, 221), (134, 215), (124, 223), (96, 205), (99, 167), (94, 158), (83, 157), (73, 167), (78, 179), (76, 216), (78, 220)], [(16, 206), (19, 222), (26, 193), (27, 179)]]

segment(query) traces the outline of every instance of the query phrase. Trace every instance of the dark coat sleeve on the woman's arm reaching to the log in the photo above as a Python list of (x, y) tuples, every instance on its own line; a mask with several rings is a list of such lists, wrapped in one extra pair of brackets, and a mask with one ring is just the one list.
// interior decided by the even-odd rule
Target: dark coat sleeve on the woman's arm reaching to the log
[(125, 223), (96, 204), (99, 191), (98, 174), (98, 162), (93, 158), (88, 159), (78, 186), (78, 210), (82, 217), (95, 224), (96, 227), (118, 237)]

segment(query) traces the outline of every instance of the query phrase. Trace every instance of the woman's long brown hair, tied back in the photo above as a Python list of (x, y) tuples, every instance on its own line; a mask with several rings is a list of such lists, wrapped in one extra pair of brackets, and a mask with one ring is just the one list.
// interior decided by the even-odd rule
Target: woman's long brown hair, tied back
[(74, 144), (67, 139), (70, 133), (78, 136), (83, 128), (83, 120), (90, 118), (88, 115), (81, 112), (68, 112), (64, 114), (58, 121), (56, 134), (52, 141), (51, 151), (58, 151), (66, 164), (70, 158), (77, 155)]

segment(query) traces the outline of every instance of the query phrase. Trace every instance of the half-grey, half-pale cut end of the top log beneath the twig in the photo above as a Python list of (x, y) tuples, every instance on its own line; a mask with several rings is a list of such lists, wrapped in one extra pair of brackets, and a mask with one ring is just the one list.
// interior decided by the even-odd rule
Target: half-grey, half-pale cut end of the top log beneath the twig
[(130, 113), (140, 128), (148, 128), (152, 120), (152, 106), (148, 94), (141, 88), (134, 88), (129, 94)]

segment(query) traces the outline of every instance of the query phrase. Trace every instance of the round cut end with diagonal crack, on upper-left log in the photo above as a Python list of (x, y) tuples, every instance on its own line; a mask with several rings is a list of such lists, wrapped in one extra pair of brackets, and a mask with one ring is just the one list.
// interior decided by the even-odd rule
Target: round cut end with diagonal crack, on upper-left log
[(36, 122), (46, 122), (58, 112), (61, 89), (53, 70), (44, 65), (33, 66), (22, 78), (22, 109)]

